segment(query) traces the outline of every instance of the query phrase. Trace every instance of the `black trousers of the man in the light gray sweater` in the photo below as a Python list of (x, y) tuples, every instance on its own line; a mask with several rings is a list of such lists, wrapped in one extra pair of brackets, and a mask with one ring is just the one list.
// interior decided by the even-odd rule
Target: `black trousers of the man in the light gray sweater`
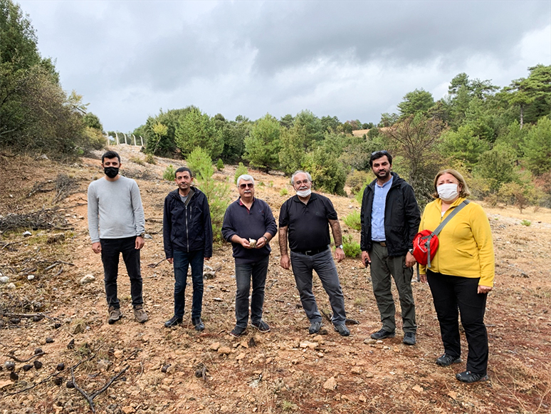
[(136, 237), (124, 239), (100, 239), (101, 261), (103, 262), (103, 281), (107, 305), (120, 308), (117, 298), (117, 276), (119, 274), (119, 257), (125, 261), (126, 271), (130, 277), (130, 295), (132, 306), (142, 305), (142, 273), (140, 271), (140, 250), (136, 249)]

